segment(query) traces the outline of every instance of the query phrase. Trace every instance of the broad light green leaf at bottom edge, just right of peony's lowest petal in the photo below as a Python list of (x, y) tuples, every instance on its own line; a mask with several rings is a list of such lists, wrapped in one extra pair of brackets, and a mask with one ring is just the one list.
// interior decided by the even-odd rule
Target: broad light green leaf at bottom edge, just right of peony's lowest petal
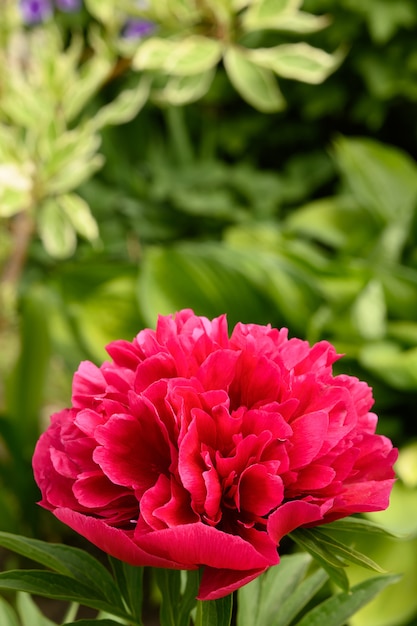
[(238, 591), (238, 626), (264, 626), (272, 624), (282, 603), (304, 578), (311, 563), (305, 552), (283, 556), (278, 565)]

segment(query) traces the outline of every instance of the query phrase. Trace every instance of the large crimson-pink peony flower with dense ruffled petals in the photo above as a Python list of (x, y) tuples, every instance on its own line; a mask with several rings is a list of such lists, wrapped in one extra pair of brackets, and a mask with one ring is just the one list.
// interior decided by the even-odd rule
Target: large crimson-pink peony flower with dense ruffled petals
[(132, 565), (204, 566), (200, 599), (279, 562), (284, 535), (388, 506), (397, 451), (371, 389), (287, 330), (190, 310), (81, 363), (33, 467), (40, 504)]

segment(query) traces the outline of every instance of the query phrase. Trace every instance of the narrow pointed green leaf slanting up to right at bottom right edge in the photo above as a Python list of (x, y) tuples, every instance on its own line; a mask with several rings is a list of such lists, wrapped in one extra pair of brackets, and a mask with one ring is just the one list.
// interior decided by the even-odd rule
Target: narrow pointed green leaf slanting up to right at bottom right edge
[(369, 578), (352, 587), (350, 592), (334, 595), (314, 607), (296, 626), (343, 626), (354, 613), (399, 579), (399, 576)]

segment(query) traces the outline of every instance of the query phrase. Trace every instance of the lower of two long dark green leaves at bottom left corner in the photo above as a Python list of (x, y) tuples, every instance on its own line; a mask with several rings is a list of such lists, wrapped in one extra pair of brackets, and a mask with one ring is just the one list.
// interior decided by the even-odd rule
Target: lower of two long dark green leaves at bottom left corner
[(120, 617), (129, 617), (125, 609), (109, 602), (103, 593), (82, 582), (44, 570), (10, 570), (0, 573), (0, 589), (25, 591), (55, 600), (78, 602), (92, 609), (104, 610)]

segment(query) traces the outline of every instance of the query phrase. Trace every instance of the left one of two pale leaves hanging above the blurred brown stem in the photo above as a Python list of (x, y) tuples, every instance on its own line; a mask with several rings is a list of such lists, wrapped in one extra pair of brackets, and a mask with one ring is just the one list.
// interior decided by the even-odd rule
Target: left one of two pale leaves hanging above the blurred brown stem
[(74, 253), (77, 246), (75, 230), (56, 199), (48, 199), (41, 205), (37, 226), (45, 250), (52, 257), (65, 259)]

